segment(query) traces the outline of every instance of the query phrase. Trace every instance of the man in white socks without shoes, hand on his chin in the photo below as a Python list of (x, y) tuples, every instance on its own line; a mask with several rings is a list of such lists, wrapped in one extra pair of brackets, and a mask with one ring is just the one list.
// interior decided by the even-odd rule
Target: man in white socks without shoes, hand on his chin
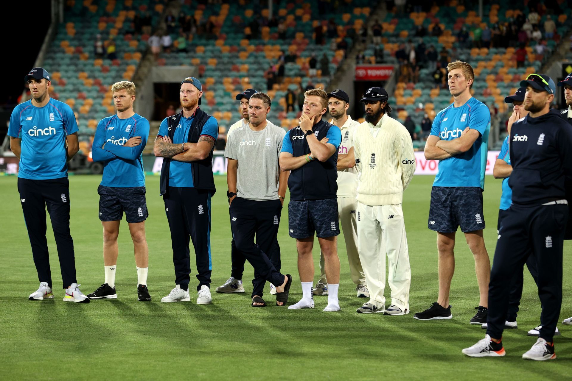
[[(328, 110), (328, 95), (322, 89), (304, 93), (300, 127), (284, 136), (280, 169), (291, 171), (288, 178), (288, 230), (296, 238), (298, 272), (303, 297), (288, 309), (313, 308), (312, 280), (314, 232), (324, 254), (328, 277), (328, 306), (324, 311), (339, 311), (337, 290), (340, 286), (340, 259), (337, 256), (337, 149), (341, 133), (337, 126), (322, 120)], [(321, 142), (324, 138), (324, 142)]]

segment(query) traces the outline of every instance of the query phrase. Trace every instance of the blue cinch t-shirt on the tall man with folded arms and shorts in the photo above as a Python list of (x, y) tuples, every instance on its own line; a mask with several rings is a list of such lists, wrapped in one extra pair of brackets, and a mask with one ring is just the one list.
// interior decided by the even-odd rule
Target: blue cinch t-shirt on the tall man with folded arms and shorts
[(484, 103), (472, 97), (463, 106), (453, 106), (454, 103), (451, 103), (435, 116), (431, 135), (450, 141), (459, 138), (464, 129), (470, 127), (471, 130), (479, 131), (480, 137), (467, 152), (439, 161), (439, 171), (433, 186), (484, 189), (491, 113)]

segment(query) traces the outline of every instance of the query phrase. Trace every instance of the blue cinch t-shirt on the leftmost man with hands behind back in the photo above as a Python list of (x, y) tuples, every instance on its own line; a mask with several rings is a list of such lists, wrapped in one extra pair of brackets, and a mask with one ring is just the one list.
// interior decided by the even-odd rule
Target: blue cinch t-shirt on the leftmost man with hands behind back
[(18, 177), (49, 180), (67, 177), (66, 136), (77, 133), (76, 115), (66, 103), (50, 98), (46, 106), (32, 101), (12, 111), (8, 135), (22, 139)]

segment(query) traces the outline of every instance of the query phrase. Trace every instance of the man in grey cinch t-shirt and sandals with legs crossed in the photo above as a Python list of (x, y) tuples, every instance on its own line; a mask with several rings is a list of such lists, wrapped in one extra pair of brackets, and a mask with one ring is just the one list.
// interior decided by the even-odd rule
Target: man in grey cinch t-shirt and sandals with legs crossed
[(280, 171), (278, 162), (285, 131), (266, 120), (270, 105), (267, 94), (251, 96), (250, 122), (229, 135), (224, 153), (236, 250), (255, 269), (253, 307), (266, 305), (262, 296), (267, 280), (276, 287), (277, 306), (286, 304), (292, 284), (291, 275), (280, 274), (280, 248), (275, 244), (288, 173)]

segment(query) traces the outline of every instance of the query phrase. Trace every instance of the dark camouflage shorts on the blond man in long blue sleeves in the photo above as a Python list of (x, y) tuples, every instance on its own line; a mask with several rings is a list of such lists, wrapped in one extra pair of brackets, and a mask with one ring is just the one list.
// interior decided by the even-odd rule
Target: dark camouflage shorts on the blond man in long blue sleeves
[(147, 203), (145, 201), (145, 187), (106, 187), (97, 188), (100, 195), (100, 220), (118, 221), (123, 218), (129, 223), (142, 222), (147, 219)]

